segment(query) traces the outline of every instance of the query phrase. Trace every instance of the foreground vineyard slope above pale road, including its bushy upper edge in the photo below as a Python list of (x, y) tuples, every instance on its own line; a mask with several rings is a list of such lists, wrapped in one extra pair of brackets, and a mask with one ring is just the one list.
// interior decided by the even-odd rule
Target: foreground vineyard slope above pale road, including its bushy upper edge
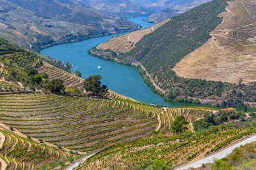
[(136, 169), (156, 156), (165, 165), (174, 166), (191, 161), (198, 155), (216, 151), (216, 146), (226, 146), (243, 136), (256, 132), (255, 119), (241, 123), (211, 126), (209, 129), (185, 132), (182, 135), (166, 136), (161, 133), (151, 138), (127, 142), (107, 148), (88, 159), (77, 169)]

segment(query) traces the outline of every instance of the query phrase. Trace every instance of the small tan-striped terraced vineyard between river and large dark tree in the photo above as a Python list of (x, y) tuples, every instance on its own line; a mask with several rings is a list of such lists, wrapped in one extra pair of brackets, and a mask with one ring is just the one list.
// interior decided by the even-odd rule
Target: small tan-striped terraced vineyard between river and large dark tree
[(71, 73), (67, 73), (57, 67), (53, 67), (47, 62), (44, 62), (43, 67), (38, 69), (38, 73), (46, 73), (49, 75), (49, 79), (62, 79), (66, 87), (71, 87), (73, 89), (83, 89), (84, 79), (77, 77)]

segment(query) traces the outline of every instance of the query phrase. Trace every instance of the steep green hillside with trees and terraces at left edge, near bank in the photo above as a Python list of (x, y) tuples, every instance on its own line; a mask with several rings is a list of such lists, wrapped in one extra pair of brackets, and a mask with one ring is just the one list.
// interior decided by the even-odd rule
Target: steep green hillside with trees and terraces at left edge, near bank
[(24, 91), (26, 87), (42, 88), (42, 78), (36, 79), (34, 75), (38, 74), (30, 75), (26, 71), (29, 67), (42, 65), (42, 58), (35, 52), (0, 38), (0, 65), (1, 91)]

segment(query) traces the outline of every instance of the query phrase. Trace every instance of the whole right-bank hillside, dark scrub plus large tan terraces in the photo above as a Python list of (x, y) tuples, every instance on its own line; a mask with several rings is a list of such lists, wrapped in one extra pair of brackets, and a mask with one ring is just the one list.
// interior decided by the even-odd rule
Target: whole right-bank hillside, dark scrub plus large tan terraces
[[(199, 99), (202, 103), (222, 106), (244, 105), (245, 102), (253, 105), (256, 101), (252, 71), (254, 24), (250, 15), (238, 21), (234, 20), (238, 16), (229, 19), (224, 17), (225, 10), (227, 15), (233, 15), (230, 13), (230, 4), (234, 3), (242, 5), (238, 7), (238, 16), (248, 16), (249, 11), (254, 13), (253, 1), (227, 3), (224, 0), (214, 0), (172, 17), (170, 22), (144, 36), (135, 44), (135, 48), (125, 54), (110, 53), (108, 50), (101, 54), (95, 53), (105, 58), (117, 58), (115, 60), (125, 64), (136, 65), (146, 83), (171, 100)], [(243, 4), (247, 6), (247, 10)], [(226, 24), (223, 23), (228, 21), (229, 27), (241, 27), (225, 30)], [(242, 22), (247, 24), (241, 25)], [(211, 42), (213, 46), (217, 44), (220, 48), (209, 48)], [(241, 44), (242, 42), (246, 43)], [(227, 46), (225, 48), (230, 53), (224, 52), (224, 46)], [(238, 58), (239, 56), (234, 55), (235, 52), (244, 56)], [(225, 58), (226, 56), (228, 57)], [(234, 76), (228, 76), (232, 72)]]

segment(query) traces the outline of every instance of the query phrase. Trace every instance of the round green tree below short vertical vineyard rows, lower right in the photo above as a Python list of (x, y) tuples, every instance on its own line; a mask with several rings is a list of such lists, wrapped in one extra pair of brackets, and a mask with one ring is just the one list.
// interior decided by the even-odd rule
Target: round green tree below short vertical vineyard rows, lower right
[(187, 127), (185, 127), (189, 122), (185, 119), (184, 116), (178, 116), (171, 124), (170, 129), (173, 133), (182, 134)]

